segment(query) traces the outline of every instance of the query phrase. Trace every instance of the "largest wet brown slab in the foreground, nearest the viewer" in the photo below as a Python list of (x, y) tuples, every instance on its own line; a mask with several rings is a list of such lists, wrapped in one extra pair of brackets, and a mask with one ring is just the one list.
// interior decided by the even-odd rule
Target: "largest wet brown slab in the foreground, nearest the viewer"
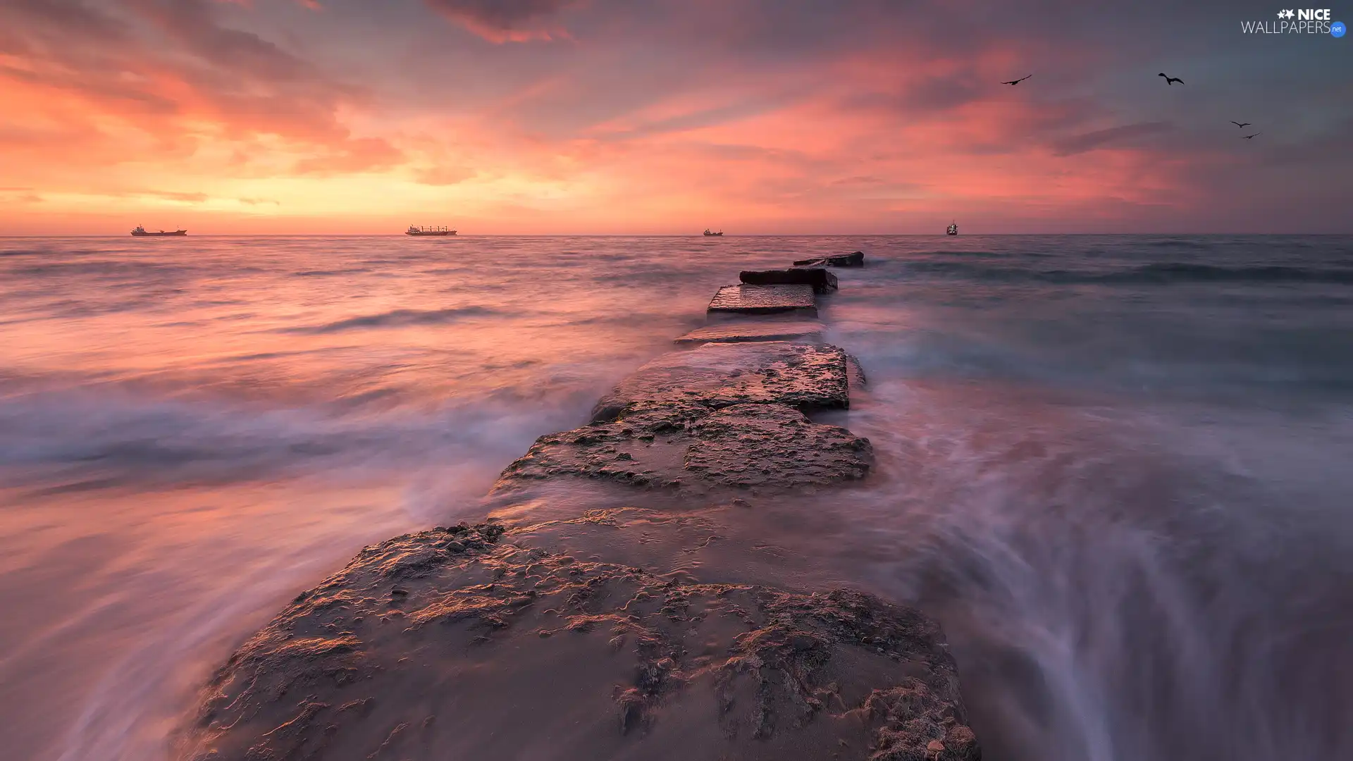
[(216, 672), (177, 758), (976, 761), (942, 632), (851, 590), (398, 536)]

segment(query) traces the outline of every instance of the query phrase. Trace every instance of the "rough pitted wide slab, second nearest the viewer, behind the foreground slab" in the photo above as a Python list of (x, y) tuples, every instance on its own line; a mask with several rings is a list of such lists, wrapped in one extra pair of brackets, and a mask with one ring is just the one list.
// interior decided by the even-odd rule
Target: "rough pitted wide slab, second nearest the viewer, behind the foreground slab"
[(541, 436), (494, 489), (574, 477), (697, 493), (774, 492), (859, 479), (873, 459), (869, 439), (785, 405), (710, 410), (658, 402), (626, 409), (614, 422)]

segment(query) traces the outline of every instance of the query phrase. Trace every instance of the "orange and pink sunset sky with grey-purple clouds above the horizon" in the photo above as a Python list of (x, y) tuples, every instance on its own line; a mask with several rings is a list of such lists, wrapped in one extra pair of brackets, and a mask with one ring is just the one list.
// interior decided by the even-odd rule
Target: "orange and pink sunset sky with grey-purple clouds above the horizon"
[(0, 0), (0, 234), (1353, 232), (1353, 37), (1181, 5)]

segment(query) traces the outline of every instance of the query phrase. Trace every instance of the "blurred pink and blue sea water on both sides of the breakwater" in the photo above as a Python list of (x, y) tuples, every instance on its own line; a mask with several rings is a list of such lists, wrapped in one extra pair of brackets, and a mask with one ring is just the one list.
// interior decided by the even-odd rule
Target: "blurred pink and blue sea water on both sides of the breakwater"
[(166, 758), (363, 544), (483, 513), (751, 267), (862, 489), (775, 538), (946, 627), (986, 757), (1353, 757), (1353, 237), (0, 240), (0, 746)]

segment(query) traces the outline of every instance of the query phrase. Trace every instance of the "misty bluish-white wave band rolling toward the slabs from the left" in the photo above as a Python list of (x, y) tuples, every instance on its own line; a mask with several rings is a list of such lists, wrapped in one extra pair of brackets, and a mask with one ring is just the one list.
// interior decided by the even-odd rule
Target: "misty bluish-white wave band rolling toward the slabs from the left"
[(106, 390), (16, 394), (0, 398), (0, 475), (61, 493), (387, 471), (422, 462), (472, 463), (491, 474), (541, 432), (570, 428), (595, 393), (579, 386), (534, 404), (484, 394), (386, 412), (265, 409)]

